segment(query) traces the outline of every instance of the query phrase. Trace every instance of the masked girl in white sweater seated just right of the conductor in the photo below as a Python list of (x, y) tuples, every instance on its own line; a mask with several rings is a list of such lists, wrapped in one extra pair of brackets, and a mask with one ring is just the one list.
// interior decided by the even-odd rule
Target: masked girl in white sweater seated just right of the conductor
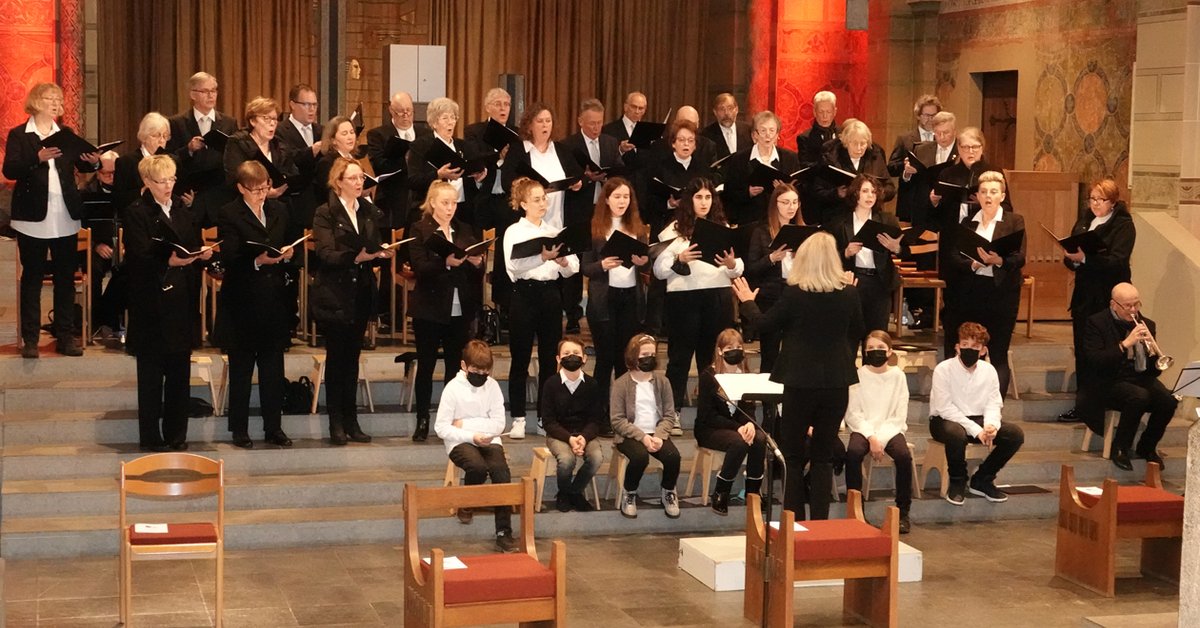
[(904, 432), (908, 429), (908, 381), (904, 371), (888, 366), (892, 336), (876, 329), (866, 335), (866, 352), (858, 369), (858, 383), (850, 387), (846, 426), (846, 489), (863, 490), (863, 459), (876, 462), (883, 454), (896, 467), (896, 508), (900, 509), (900, 533), (907, 534), (908, 507), (912, 506), (912, 453)]

